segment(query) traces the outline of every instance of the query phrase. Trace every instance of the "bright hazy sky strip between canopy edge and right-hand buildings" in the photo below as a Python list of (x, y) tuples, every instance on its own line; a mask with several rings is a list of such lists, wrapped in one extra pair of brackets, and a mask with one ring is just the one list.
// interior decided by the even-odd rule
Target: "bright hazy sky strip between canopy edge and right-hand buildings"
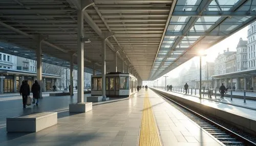
[[(242, 30), (238, 31), (237, 33), (234, 33), (233, 35), (229, 36), (228, 38), (222, 40), (221, 42), (217, 43), (214, 46), (211, 46), (207, 50), (205, 50), (205, 54), (207, 54), (206, 57), (202, 58), (202, 64), (205, 64), (206, 61), (208, 62), (214, 62), (215, 58), (217, 58), (218, 54), (222, 54), (224, 50), (227, 50), (229, 48), (229, 51), (237, 51), (237, 45), (239, 42), (239, 39), (242, 38), (243, 40), (247, 40), (247, 31), (248, 27), (243, 28)], [(177, 78), (179, 76), (179, 72), (184, 69), (189, 69), (191, 63), (195, 61), (196, 65), (199, 65), (199, 57), (194, 57), (190, 59), (189, 61), (183, 63), (179, 67), (175, 68), (174, 70), (168, 72), (166, 76)], [(170, 76), (171, 75), (171, 76)], [(161, 78), (159, 79), (161, 80)]]

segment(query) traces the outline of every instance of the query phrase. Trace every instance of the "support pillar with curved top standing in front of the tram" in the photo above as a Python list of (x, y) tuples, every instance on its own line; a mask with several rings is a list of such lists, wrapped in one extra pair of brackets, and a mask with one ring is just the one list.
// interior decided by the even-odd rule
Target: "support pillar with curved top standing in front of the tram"
[(102, 101), (106, 101), (106, 39), (113, 36), (114, 34), (112, 32), (105, 32), (102, 33), (102, 68), (101, 68), (101, 74), (102, 74)]

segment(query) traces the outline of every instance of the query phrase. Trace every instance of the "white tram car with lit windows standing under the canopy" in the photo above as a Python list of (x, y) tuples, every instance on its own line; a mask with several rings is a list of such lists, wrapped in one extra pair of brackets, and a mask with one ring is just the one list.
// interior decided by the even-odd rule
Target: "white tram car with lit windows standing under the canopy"
[[(101, 75), (92, 75), (91, 95), (102, 95)], [(137, 78), (131, 74), (110, 72), (106, 74), (107, 97), (129, 97), (136, 92)]]

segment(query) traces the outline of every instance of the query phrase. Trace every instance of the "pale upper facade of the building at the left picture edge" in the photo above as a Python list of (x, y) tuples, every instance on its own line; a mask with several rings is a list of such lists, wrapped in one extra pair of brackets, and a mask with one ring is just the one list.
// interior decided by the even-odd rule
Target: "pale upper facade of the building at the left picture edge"
[(16, 69), (16, 56), (0, 53), (0, 68)]

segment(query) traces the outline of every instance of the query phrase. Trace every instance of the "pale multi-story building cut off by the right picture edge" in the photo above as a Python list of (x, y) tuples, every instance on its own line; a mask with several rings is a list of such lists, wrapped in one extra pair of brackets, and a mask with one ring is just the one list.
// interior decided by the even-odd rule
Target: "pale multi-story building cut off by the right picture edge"
[(251, 23), (248, 29), (248, 43), (247, 43), (247, 55), (248, 55), (248, 69), (256, 68), (255, 61), (255, 45), (256, 45), (256, 21)]

